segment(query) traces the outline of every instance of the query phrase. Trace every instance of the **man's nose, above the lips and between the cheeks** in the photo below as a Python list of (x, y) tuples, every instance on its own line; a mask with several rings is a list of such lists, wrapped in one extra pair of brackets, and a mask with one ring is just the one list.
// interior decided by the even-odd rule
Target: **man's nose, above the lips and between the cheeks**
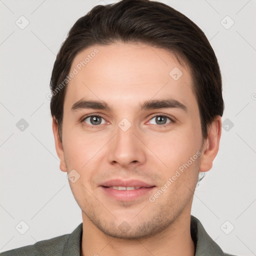
[[(121, 126), (120, 126), (121, 127)], [(128, 130), (116, 127), (116, 134), (108, 145), (108, 162), (115, 167), (135, 167), (145, 162), (146, 146), (134, 125)]]

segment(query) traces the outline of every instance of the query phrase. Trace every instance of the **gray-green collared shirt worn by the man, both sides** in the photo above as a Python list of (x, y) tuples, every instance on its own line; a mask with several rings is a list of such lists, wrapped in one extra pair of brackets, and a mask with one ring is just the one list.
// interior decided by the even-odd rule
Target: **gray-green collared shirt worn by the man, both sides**
[[(210, 238), (201, 222), (191, 216), (191, 237), (195, 243), (195, 256), (225, 256), (220, 247)], [(20, 248), (0, 253), (0, 256), (80, 256), (82, 223), (72, 233), (42, 240)]]

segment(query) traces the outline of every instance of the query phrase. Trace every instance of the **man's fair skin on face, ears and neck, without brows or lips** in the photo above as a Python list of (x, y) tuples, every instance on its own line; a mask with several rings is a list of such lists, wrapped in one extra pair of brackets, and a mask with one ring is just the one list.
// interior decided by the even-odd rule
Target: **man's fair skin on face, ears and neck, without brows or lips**
[[(164, 49), (142, 43), (93, 45), (75, 56), (70, 70), (95, 48), (99, 52), (67, 85), (62, 143), (54, 118), (52, 121), (60, 169), (75, 169), (80, 175), (69, 184), (82, 211), (85, 231), (81, 253), (194, 255), (190, 236), (192, 197), (199, 170), (208, 171), (217, 154), (221, 117), (215, 117), (207, 138), (202, 140), (189, 67)], [(169, 75), (174, 67), (183, 73), (176, 81)], [(179, 101), (186, 111), (178, 107), (139, 108), (144, 101), (166, 98)], [(81, 99), (104, 100), (110, 110), (72, 110)], [(101, 122), (96, 119), (99, 124), (91, 123), (90, 118), (83, 120), (95, 113), (102, 116)], [(173, 121), (166, 118), (165, 126), (159, 124), (156, 116), (161, 114)], [(118, 126), (123, 118), (131, 124), (127, 131)], [(149, 201), (148, 197), (199, 150), (200, 157), (154, 202)], [(118, 201), (99, 186), (114, 178), (139, 179), (155, 187), (150, 194), (132, 201)], [(118, 228), (123, 222), (128, 231)]]

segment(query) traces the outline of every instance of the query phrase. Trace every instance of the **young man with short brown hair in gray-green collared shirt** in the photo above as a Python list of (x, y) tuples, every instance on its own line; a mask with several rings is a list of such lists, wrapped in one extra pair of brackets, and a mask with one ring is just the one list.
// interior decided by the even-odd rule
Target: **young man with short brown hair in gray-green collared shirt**
[(227, 255), (190, 216), (223, 113), (217, 59), (191, 20), (155, 1), (95, 6), (70, 29), (50, 86), (82, 223), (1, 255)]

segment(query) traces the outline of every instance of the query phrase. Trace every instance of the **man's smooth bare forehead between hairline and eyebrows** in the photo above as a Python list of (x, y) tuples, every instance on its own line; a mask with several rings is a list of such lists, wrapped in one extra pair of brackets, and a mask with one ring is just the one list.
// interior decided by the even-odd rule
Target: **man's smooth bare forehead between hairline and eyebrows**
[(81, 98), (129, 106), (150, 98), (195, 100), (188, 66), (165, 49), (142, 43), (90, 46), (75, 56), (70, 72), (75, 75), (67, 85), (68, 105)]

